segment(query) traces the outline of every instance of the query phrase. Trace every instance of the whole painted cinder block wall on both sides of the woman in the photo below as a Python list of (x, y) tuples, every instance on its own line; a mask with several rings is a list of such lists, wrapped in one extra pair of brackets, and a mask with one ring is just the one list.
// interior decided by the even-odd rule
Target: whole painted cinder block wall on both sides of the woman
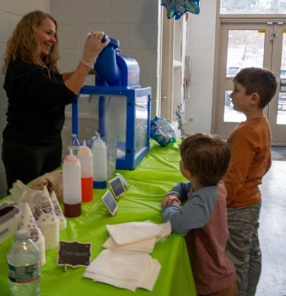
[[(0, 1), (0, 66), (3, 67), (5, 44), (21, 16), (32, 10), (51, 13), (59, 24), (61, 72), (73, 71), (82, 54), (86, 33), (93, 30), (106, 32), (120, 40), (121, 53), (139, 62), (141, 84), (152, 86), (152, 116), (158, 114), (160, 88), (160, 1), (158, 0), (2, 0)], [(0, 152), (5, 127), (7, 97), (0, 74)], [(86, 84), (93, 84), (88, 77)], [(82, 134), (94, 129), (97, 110), (88, 103), (81, 106)], [(71, 134), (71, 108), (67, 108), (64, 126), (64, 145)], [(0, 197), (5, 196), (6, 182), (0, 160)]]

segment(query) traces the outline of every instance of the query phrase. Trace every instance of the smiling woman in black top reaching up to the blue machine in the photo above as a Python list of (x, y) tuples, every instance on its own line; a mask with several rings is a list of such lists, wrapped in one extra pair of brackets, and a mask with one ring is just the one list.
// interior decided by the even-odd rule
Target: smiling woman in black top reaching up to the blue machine
[(58, 73), (58, 25), (41, 11), (25, 14), (7, 43), (3, 88), (8, 97), (2, 160), (8, 188), (30, 182), (60, 166), (64, 108), (84, 84), (100, 51), (104, 32), (88, 34), (73, 72)]

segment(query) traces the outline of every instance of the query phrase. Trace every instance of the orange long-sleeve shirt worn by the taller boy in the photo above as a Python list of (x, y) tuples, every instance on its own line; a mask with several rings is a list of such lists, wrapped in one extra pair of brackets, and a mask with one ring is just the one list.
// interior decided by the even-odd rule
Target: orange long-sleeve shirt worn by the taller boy
[(271, 167), (271, 142), (270, 125), (264, 116), (239, 123), (230, 134), (230, 166), (224, 177), (229, 208), (252, 206), (260, 201), (259, 184)]

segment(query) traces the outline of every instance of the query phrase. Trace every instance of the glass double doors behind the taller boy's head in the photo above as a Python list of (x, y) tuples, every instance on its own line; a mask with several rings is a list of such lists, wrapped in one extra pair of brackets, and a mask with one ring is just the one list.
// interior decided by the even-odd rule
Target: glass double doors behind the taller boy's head
[(276, 73), (279, 85), (280, 76), (285, 77), (285, 92), (278, 92), (264, 111), (272, 127), (274, 143), (286, 143), (286, 136), (284, 136), (286, 135), (286, 33), (284, 33), (284, 25), (276, 25), (272, 22), (226, 23), (221, 25), (221, 30), (215, 133), (228, 138), (235, 125), (246, 119), (241, 112), (233, 110), (230, 99), (233, 77), (243, 68), (257, 66), (271, 69)]

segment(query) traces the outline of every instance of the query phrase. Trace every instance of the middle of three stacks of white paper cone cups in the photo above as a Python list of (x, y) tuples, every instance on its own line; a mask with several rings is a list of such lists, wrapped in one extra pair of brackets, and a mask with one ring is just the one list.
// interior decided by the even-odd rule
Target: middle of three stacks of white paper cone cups
[(38, 204), (35, 207), (34, 217), (38, 227), (40, 227), (45, 236), (46, 249), (57, 247), (60, 239), (60, 222), (46, 186), (44, 186)]

